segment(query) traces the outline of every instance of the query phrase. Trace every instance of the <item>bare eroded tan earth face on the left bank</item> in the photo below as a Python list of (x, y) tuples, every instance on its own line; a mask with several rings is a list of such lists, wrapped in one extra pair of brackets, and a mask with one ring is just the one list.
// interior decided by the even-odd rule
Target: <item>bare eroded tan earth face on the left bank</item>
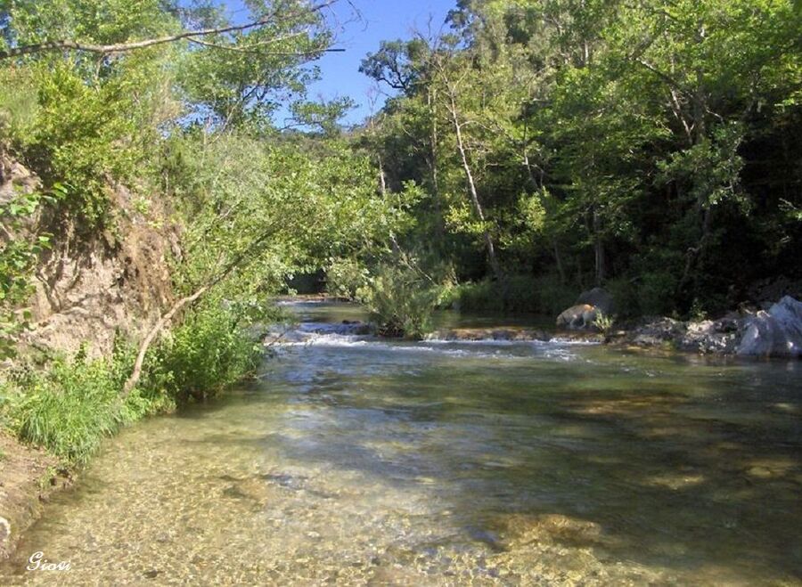
[[(0, 203), (40, 187), (37, 175), (0, 151)], [(147, 216), (137, 212), (136, 194), (123, 185), (109, 186), (109, 195), (118, 214), (116, 234), (86, 236), (76, 221), (40, 211), (12, 235), (53, 234), (34, 275), (33, 328), (20, 335), (21, 345), (69, 353), (87, 342), (90, 355), (107, 355), (116, 330), (139, 338), (171, 304), (168, 258), (181, 251), (167, 210), (157, 201)]]

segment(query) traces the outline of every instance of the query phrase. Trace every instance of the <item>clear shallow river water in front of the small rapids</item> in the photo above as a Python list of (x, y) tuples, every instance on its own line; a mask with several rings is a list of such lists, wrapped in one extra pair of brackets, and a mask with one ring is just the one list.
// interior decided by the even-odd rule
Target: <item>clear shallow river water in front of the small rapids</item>
[(311, 337), (110, 441), (0, 583), (802, 584), (798, 363)]

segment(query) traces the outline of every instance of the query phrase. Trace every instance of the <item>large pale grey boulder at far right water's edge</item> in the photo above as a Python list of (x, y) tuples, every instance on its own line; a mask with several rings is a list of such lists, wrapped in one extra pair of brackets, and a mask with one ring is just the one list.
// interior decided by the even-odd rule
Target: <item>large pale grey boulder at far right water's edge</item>
[(747, 321), (738, 355), (802, 356), (802, 302), (786, 296)]

